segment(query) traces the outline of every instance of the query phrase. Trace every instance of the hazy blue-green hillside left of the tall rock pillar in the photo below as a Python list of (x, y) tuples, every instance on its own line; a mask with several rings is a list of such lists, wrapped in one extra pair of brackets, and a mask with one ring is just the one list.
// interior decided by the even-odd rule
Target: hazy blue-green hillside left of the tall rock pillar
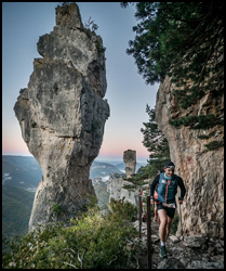
[[(35, 192), (42, 171), (34, 157), (2, 155), (2, 236), (28, 232)], [(8, 251), (2, 245), (2, 251)]]

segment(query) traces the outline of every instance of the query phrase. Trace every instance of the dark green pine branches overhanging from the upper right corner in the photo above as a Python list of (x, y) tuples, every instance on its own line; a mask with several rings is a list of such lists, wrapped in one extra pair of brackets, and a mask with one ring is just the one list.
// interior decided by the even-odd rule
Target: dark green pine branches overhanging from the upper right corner
[[(128, 2), (121, 7), (127, 8)], [(129, 41), (127, 53), (135, 59), (146, 83), (154, 85), (169, 76), (174, 83), (173, 95), (184, 109), (207, 93), (221, 98), (224, 2), (136, 2), (135, 8), (136, 35)], [(217, 122), (217, 116), (214, 118)]]

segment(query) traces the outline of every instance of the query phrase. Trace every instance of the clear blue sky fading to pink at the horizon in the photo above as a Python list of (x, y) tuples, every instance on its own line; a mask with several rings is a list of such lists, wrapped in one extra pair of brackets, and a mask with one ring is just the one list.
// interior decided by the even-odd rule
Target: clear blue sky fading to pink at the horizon
[[(39, 37), (55, 26), (55, 8), (59, 2), (2, 3), (2, 154), (31, 156), (22, 138), (13, 107), (19, 90), (27, 88), (34, 72), (32, 62), (42, 57), (37, 51)], [(122, 160), (123, 152), (136, 151), (137, 162), (147, 162), (143, 145), (143, 122), (148, 121), (146, 105), (156, 105), (159, 85), (150, 86), (137, 73), (129, 40), (137, 25), (133, 5), (122, 9), (120, 2), (77, 2), (82, 23), (91, 17), (96, 34), (106, 48), (107, 99), (110, 117), (105, 124), (102, 147), (96, 160)]]

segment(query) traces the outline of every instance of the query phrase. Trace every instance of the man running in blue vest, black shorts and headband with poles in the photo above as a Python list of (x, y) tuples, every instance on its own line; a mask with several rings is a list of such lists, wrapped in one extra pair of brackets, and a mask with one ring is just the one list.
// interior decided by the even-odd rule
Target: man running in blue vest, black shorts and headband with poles
[(174, 175), (175, 165), (172, 162), (164, 164), (164, 172), (158, 175), (150, 185), (150, 204), (155, 204), (154, 191), (158, 184), (157, 192), (157, 210), (160, 218), (159, 236), (160, 247), (159, 256), (167, 258), (165, 241), (170, 234), (170, 227), (175, 214), (176, 201), (175, 195), (177, 193), (177, 185), (181, 188), (181, 197), (178, 197), (178, 204), (183, 203), (186, 190), (181, 177)]

